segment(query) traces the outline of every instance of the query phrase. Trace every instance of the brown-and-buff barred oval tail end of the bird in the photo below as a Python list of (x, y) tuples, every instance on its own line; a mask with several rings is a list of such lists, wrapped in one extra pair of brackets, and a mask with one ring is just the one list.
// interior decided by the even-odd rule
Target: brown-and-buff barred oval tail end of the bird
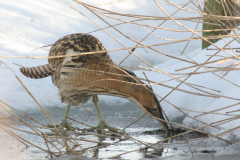
[(56, 67), (53, 64), (45, 64), (42, 66), (31, 68), (21, 67), (20, 71), (26, 77), (39, 79), (51, 76), (54, 73), (55, 69)]

